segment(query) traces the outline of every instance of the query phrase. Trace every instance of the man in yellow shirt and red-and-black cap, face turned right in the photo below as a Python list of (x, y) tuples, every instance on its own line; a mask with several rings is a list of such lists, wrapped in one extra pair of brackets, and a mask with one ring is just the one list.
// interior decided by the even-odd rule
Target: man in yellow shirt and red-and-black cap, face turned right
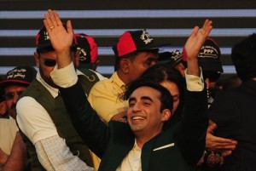
[(158, 58), (158, 45), (147, 30), (125, 31), (113, 47), (115, 72), (91, 88), (90, 105), (105, 123), (111, 119), (125, 122), (128, 103), (120, 94), (131, 81), (140, 77)]

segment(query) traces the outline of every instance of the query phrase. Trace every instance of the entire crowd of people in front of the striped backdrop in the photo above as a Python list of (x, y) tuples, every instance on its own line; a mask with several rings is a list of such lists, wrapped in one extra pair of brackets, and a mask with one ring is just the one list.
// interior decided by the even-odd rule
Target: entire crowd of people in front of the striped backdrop
[(212, 20), (182, 50), (160, 52), (146, 29), (113, 45), (103, 77), (93, 37), (49, 9), (33, 66), (0, 81), (0, 170), (256, 170), (256, 34), (232, 47), (222, 86)]

